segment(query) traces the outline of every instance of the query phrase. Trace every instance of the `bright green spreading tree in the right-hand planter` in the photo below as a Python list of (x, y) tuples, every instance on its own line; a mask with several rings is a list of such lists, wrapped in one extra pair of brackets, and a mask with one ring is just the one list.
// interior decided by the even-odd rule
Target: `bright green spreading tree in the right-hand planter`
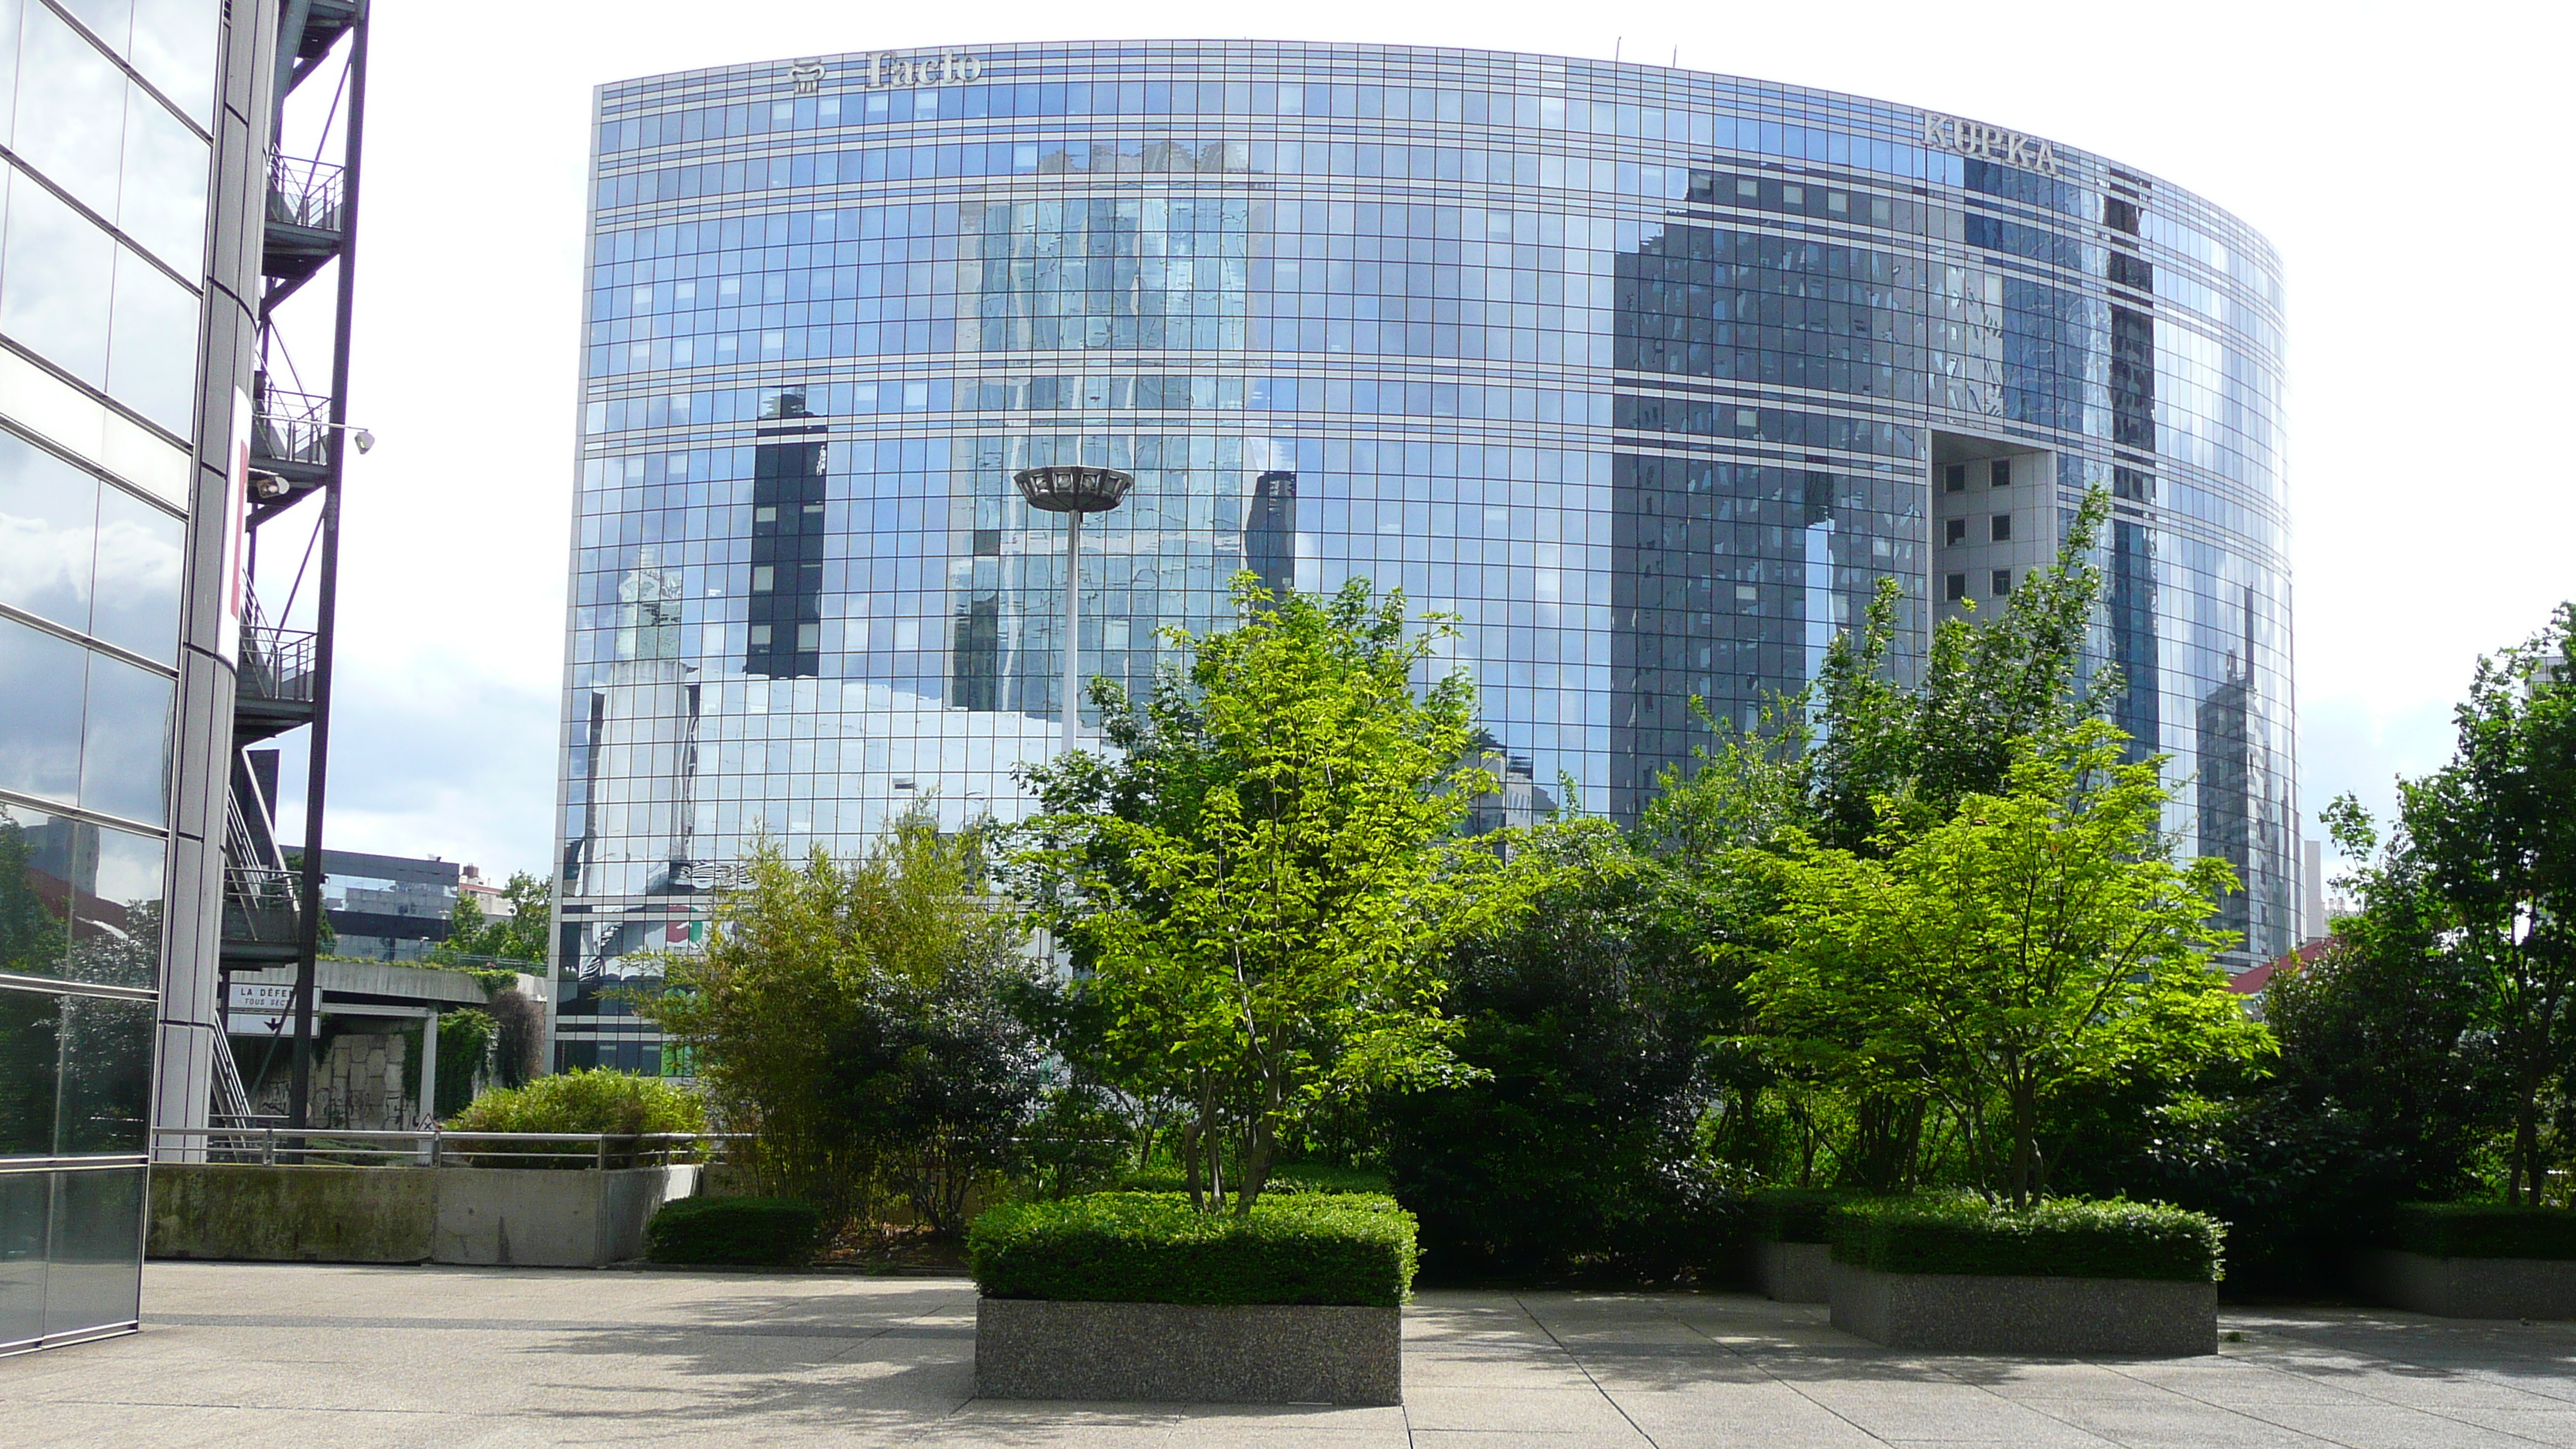
[(1965, 794), (1929, 830), (1886, 804), (1883, 859), (1798, 851), (1790, 941), (1747, 982), (1775, 1057), (1940, 1104), (1981, 1186), (2014, 1207), (2045, 1191), (2079, 1091), (2269, 1049), (2210, 969), (2228, 866), (2174, 864), (2161, 761), (2120, 755), (2120, 732), (2087, 722), (2027, 745), (2004, 794)]

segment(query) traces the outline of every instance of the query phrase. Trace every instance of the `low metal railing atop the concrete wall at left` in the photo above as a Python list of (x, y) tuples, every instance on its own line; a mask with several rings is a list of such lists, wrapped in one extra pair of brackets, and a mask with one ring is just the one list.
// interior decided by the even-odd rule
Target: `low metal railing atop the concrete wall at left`
[(724, 1163), (750, 1132), (363, 1132), (348, 1127), (155, 1127), (152, 1145), (206, 1150), (209, 1163), (343, 1168), (670, 1168)]

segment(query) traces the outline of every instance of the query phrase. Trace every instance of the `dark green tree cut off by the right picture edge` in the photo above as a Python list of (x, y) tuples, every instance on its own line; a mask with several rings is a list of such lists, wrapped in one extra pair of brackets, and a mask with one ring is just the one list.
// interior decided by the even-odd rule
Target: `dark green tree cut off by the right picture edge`
[(2504, 1199), (2540, 1201), (2548, 1101), (2576, 1065), (2576, 603), (2478, 660), (2439, 771), (2401, 781), (2447, 949), (2481, 982), (2478, 1026), (2512, 1106)]

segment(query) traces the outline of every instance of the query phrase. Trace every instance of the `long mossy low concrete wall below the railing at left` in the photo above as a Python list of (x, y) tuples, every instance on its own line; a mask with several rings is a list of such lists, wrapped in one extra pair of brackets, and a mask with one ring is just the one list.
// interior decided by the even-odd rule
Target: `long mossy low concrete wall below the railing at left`
[(696, 1165), (263, 1168), (157, 1163), (152, 1258), (252, 1263), (518, 1263), (598, 1269), (644, 1253), (644, 1220)]

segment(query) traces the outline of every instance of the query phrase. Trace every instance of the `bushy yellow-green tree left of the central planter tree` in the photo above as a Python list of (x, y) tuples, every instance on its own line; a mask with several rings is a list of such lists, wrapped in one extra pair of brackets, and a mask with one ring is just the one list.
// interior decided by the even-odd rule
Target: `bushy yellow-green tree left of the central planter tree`
[(855, 861), (757, 846), (706, 949), (667, 954), (639, 1011), (755, 1134), (765, 1186), (835, 1225), (891, 1189), (956, 1230), (1036, 1111), (1043, 1052), (1007, 1011), (1036, 972), (1020, 938), (981, 833), (914, 807)]

